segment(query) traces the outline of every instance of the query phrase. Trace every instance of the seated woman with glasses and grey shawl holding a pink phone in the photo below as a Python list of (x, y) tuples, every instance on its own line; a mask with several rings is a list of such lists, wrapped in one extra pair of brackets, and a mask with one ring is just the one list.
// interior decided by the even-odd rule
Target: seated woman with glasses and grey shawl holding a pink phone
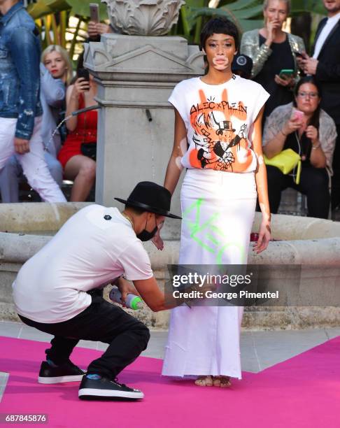
[(292, 103), (277, 107), (268, 117), (263, 151), (269, 159), (288, 148), (297, 152), (302, 160), (300, 182), (295, 183), (295, 169), (285, 175), (276, 166), (267, 165), (270, 211), (278, 212), (282, 190), (292, 187), (306, 195), (310, 217), (327, 218), (335, 123), (320, 108), (320, 85), (312, 76), (301, 78), (294, 94)]

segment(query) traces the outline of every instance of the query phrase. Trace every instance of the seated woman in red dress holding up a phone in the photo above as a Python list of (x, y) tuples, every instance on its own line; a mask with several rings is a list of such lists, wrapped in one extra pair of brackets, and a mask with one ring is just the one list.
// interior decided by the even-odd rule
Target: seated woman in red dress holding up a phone
[[(66, 117), (73, 111), (94, 106), (97, 102), (97, 84), (83, 69), (83, 54), (77, 66), (77, 78), (66, 92)], [(66, 121), (69, 134), (59, 151), (58, 159), (64, 168), (64, 177), (73, 180), (70, 201), (86, 201), (96, 177), (96, 162), (83, 154), (82, 147), (92, 144), (95, 152), (97, 143), (97, 110), (73, 116)]]

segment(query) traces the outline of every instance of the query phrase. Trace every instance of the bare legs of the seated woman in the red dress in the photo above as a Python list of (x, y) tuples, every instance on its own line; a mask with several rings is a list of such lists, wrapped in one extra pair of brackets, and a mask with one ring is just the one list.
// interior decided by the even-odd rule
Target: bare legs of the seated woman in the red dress
[(96, 178), (96, 162), (87, 156), (73, 156), (66, 163), (64, 176), (73, 180), (71, 202), (86, 201)]

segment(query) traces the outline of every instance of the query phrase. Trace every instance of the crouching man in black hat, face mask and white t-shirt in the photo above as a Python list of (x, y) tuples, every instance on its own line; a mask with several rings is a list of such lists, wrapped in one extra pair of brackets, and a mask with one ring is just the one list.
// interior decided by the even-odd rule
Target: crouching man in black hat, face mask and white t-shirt
[[(139, 320), (99, 295), (89, 294), (122, 275), (116, 284), (125, 299), (140, 294), (153, 311), (169, 309), (153, 276), (148, 241), (169, 213), (171, 194), (150, 182), (136, 185), (125, 211), (90, 205), (73, 215), (20, 269), (13, 283), (17, 313), (24, 324), (52, 334), (38, 377), (40, 383), (81, 380), (79, 397), (143, 398), (118, 383), (118, 373), (146, 349), (150, 333)], [(136, 288), (135, 288), (136, 287)], [(108, 343), (84, 373), (69, 359), (80, 339)]]

